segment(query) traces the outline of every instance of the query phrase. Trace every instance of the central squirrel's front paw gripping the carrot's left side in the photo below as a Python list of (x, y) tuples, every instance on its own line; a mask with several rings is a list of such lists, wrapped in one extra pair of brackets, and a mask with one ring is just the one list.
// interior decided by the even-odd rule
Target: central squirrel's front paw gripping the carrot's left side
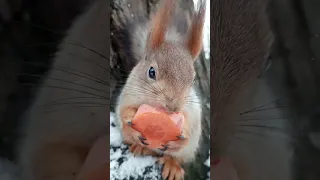
[(144, 138), (140, 132), (132, 128), (134, 125), (135, 124), (133, 124), (132, 121), (126, 121), (126, 123), (123, 125), (122, 132), (124, 142), (126, 144), (138, 143), (140, 145), (149, 145), (147, 139)]

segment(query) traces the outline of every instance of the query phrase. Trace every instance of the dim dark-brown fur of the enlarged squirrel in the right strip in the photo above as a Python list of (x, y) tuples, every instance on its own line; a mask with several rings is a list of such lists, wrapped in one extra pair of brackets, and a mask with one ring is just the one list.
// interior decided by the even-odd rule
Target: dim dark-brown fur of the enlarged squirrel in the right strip
[[(212, 31), (211, 88), (213, 92), (212, 123), (215, 136), (213, 155), (225, 151), (225, 126), (237, 112), (233, 105), (243, 87), (256, 79), (269, 51), (266, 14), (262, 1), (215, 0), (211, 2)], [(219, 128), (219, 129), (217, 129)], [(229, 128), (227, 128), (229, 129)]]

